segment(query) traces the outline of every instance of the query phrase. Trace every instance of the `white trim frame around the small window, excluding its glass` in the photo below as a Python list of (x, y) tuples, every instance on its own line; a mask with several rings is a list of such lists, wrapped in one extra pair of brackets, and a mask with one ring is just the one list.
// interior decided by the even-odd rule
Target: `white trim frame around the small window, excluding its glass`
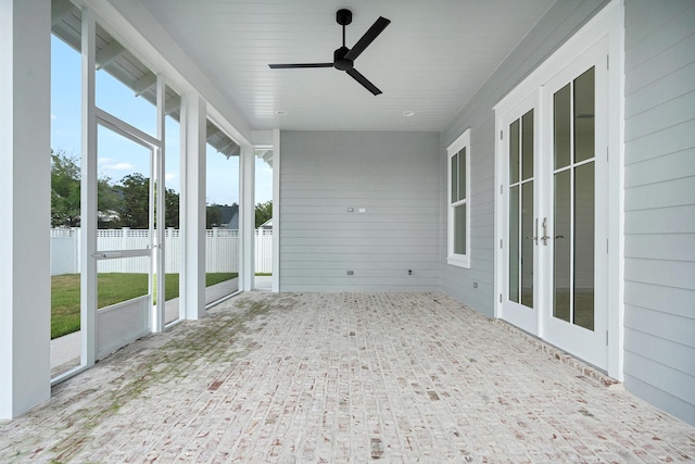
[[(466, 200), (452, 203), (452, 158), (466, 149)], [(470, 268), (470, 128), (466, 129), (446, 149), (447, 193), (446, 193), (446, 262), (452, 266)], [(454, 253), (454, 209), (466, 204), (466, 253)]]

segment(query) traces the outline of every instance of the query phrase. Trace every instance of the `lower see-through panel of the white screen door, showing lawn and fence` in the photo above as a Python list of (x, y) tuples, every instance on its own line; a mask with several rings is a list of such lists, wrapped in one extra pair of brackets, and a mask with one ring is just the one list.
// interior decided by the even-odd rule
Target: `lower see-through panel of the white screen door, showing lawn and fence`
[(150, 293), (150, 256), (97, 262), (97, 308), (108, 308)]

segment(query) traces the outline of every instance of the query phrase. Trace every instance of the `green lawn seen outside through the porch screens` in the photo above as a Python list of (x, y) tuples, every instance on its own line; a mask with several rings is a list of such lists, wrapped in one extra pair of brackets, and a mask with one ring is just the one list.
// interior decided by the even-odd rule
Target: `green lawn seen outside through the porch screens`
[[(237, 273), (205, 274), (205, 286), (237, 277)], [(178, 297), (178, 274), (166, 274), (166, 300)], [(99, 274), (97, 308), (105, 308), (148, 292), (147, 274)], [(51, 277), (51, 338), (79, 330), (79, 274)]]

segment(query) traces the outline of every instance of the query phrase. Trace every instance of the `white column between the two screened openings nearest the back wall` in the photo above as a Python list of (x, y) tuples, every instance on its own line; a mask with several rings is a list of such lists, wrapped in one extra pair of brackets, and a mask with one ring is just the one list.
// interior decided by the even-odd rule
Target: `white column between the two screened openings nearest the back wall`
[(255, 276), (255, 150), (249, 145), (241, 147), (239, 170), (239, 236), (241, 237), (240, 290), (253, 290)]

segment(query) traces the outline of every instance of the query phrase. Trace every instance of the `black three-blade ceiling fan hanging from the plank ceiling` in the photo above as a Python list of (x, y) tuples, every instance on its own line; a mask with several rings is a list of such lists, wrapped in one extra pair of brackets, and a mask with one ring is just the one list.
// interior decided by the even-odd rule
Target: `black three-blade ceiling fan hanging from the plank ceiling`
[(333, 52), (332, 63), (298, 63), (298, 64), (269, 64), (273, 70), (300, 68), (300, 67), (334, 67), (350, 74), (355, 80), (362, 84), (367, 90), (375, 96), (381, 93), (381, 90), (355, 70), (354, 61), (367, 47), (391, 24), (390, 20), (379, 16), (379, 18), (369, 27), (364, 36), (352, 49), (345, 47), (345, 26), (352, 23), (352, 12), (350, 10), (338, 10), (336, 13), (336, 22), (343, 26), (343, 46)]

